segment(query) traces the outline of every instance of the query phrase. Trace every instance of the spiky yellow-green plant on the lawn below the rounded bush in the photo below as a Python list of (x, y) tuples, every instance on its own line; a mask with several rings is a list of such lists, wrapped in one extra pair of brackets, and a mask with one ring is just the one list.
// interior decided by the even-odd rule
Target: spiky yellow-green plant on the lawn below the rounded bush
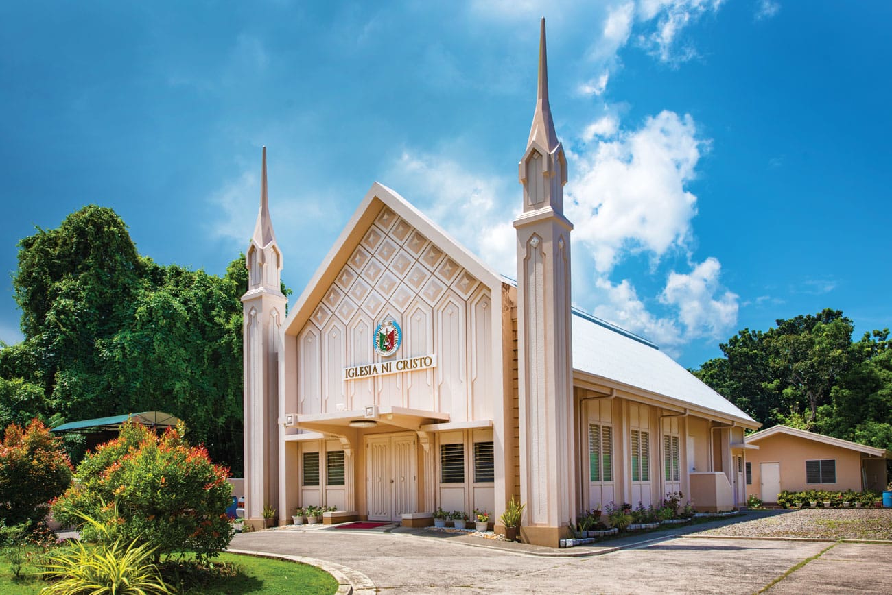
[[(107, 529), (86, 515), (78, 515), (107, 534)], [(54, 581), (41, 593), (47, 595), (153, 595), (170, 593), (152, 562), (155, 552), (148, 543), (100, 542), (87, 546), (76, 542), (52, 556), (46, 564), (46, 578)]]

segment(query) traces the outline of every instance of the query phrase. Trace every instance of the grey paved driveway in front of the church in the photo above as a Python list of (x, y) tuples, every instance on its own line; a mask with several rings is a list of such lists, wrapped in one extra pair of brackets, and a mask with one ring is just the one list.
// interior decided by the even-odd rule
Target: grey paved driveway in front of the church
[(815, 556), (768, 592), (892, 592), (887, 544), (677, 537), (568, 558), (425, 533), (280, 529), (240, 534), (231, 547), (335, 562), (388, 593), (753, 593)]

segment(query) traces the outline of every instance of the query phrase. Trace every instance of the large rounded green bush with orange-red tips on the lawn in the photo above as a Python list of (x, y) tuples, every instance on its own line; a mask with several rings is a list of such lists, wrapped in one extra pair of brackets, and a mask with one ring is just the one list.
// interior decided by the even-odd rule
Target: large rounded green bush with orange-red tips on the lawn
[[(53, 505), (56, 519), (80, 526), (87, 540), (151, 543), (157, 557), (194, 552), (201, 561), (226, 549), (233, 528), (229, 470), (214, 465), (203, 446), (190, 446), (185, 427), (157, 436), (127, 422), (115, 440), (78, 465), (74, 483)], [(99, 520), (99, 531), (78, 513)]]

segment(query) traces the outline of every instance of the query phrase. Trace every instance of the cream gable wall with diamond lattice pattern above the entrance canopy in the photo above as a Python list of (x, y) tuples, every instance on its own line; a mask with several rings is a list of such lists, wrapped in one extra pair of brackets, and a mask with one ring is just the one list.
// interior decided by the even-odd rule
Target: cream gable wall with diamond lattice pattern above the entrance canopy
[[(410, 223), (413, 213), (400, 216), (384, 203), (373, 215), (365, 229), (349, 233), (352, 251), (318, 275), (331, 281), (301, 296), (321, 298), (299, 303), (309, 315), (297, 332), (296, 411), (376, 404), (446, 412), (451, 421), (491, 419), (491, 287), (459, 264), (464, 255), (435, 230)], [(381, 355), (374, 336), (387, 321), (401, 330), (401, 346)], [(421, 369), (384, 371), (425, 357), (431, 359)], [(344, 378), (347, 369), (372, 365), (379, 368)]]

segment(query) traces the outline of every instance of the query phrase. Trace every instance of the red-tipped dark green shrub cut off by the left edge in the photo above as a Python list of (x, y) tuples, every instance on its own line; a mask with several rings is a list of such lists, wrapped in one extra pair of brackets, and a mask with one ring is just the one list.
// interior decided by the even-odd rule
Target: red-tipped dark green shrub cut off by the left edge
[(46, 516), (49, 501), (71, 483), (71, 461), (62, 441), (40, 420), (27, 428), (11, 424), (0, 444), (0, 520), (34, 526)]

